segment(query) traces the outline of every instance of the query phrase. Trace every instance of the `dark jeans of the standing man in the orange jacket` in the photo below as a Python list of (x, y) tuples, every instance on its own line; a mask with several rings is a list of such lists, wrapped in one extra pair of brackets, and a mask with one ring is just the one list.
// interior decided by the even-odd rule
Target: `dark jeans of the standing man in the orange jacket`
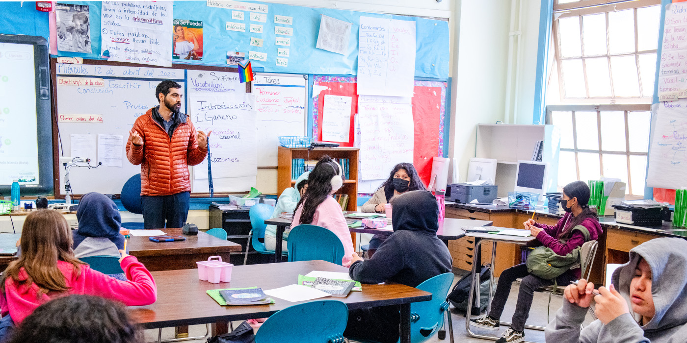
[[(171, 196), (141, 196), (144, 227), (181, 228), (188, 217), (190, 192)], [(165, 221), (167, 226), (165, 226)]]

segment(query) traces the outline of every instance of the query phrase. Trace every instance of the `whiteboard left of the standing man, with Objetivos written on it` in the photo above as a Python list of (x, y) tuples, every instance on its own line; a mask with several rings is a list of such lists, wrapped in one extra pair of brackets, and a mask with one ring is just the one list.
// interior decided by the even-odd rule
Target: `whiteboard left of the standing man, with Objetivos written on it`
[[(103, 86), (71, 86), (60, 84), (63, 76), (58, 75), (57, 83), (57, 116), (60, 115), (101, 115), (102, 122), (58, 122), (60, 132), (60, 156), (69, 156), (71, 134), (92, 134), (98, 141), (98, 134), (115, 134), (122, 136), (122, 167), (101, 165), (95, 169), (72, 167), (69, 171), (69, 183), (72, 193), (84, 194), (91, 191), (119, 194), (124, 182), (141, 172), (140, 165), (132, 165), (126, 159), (126, 140), (137, 117), (159, 104), (155, 102), (155, 87), (159, 80), (103, 79)], [(69, 78), (90, 78), (74, 77)], [(179, 82), (184, 86), (183, 82)], [(64, 82), (63, 82), (64, 83)], [(182, 100), (181, 108), (185, 108)], [(71, 156), (74, 157), (74, 156)], [(82, 156), (93, 160), (96, 156)], [(84, 163), (79, 165), (85, 166)], [(60, 165), (60, 193), (64, 194), (65, 169)]]

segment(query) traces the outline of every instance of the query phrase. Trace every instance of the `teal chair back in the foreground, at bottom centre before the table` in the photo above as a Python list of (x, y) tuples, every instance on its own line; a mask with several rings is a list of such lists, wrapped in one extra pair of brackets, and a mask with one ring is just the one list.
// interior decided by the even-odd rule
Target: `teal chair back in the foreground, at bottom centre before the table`
[(346, 322), (348, 307), (339, 300), (293, 305), (265, 320), (256, 343), (343, 343)]

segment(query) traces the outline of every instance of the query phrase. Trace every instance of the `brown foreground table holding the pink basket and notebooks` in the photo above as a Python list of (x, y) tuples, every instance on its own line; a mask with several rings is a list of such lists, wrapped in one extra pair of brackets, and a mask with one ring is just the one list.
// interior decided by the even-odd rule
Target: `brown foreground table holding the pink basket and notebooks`
[[(200, 281), (196, 270), (153, 272), (157, 301), (153, 305), (129, 307), (129, 313), (144, 329), (206, 323), (216, 323), (219, 328), (226, 327), (226, 323), (233, 320), (265, 318), (298, 303), (274, 298), (272, 305), (220, 306), (205, 291), (240, 287), (274, 289), (293, 285), (298, 281), (298, 274), (305, 275), (313, 270), (348, 272), (348, 268), (326, 261), (236, 265), (232, 270), (232, 282), (217, 284)], [(431, 293), (400, 284), (363, 285), (363, 292), (350, 292), (346, 298), (319, 300), (322, 299), (341, 300), (349, 309), (398, 305), (401, 309), (401, 342), (409, 343), (410, 303), (431, 300)], [(213, 334), (219, 334), (223, 330), (214, 331)]]

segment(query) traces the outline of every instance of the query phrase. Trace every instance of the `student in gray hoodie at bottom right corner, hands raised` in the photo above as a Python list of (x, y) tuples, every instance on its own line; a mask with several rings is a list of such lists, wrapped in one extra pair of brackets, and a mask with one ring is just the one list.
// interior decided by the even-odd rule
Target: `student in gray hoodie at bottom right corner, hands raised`
[[(596, 296), (584, 279), (567, 286), (546, 342), (687, 342), (687, 240), (656, 238), (633, 248), (611, 281)], [(592, 298), (598, 320), (581, 330)]]

